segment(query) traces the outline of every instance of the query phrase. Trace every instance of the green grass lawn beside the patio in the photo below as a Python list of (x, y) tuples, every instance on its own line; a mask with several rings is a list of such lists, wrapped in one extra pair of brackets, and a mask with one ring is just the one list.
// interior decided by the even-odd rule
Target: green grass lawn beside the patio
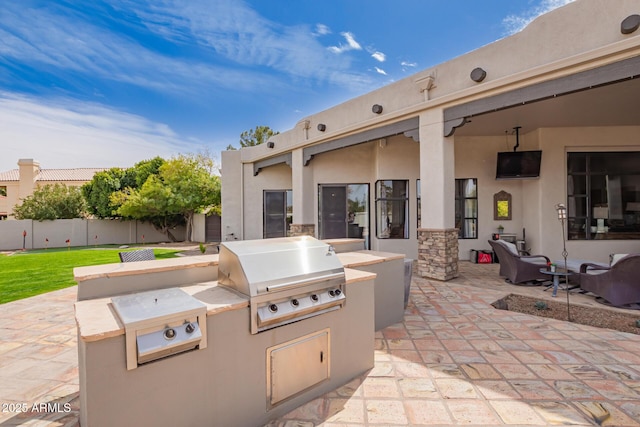
[[(130, 248), (127, 250), (135, 250)], [(156, 258), (175, 258), (177, 249), (154, 249)], [(48, 249), (0, 255), (0, 304), (76, 284), (73, 268), (120, 262), (118, 248)]]

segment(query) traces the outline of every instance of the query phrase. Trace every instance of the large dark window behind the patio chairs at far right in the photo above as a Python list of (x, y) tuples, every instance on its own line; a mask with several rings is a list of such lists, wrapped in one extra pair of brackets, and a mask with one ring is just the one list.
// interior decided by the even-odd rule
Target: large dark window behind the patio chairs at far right
[(640, 239), (640, 152), (567, 153), (569, 240)]

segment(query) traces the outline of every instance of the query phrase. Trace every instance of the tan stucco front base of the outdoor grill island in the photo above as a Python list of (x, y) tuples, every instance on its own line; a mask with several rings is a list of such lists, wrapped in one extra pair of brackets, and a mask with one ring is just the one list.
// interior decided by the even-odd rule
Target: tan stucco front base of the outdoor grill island
[[(208, 313), (207, 348), (133, 370), (126, 368), (124, 331), (93, 337), (93, 341), (79, 332), (80, 424), (261, 426), (346, 384), (374, 366), (374, 276), (356, 274), (354, 282), (347, 278), (348, 300), (340, 310), (256, 335), (250, 333), (246, 306)], [(193, 295), (210, 308), (220, 303), (206, 292)], [(106, 307), (99, 312), (113, 316)], [(104, 319), (95, 316), (81, 316), (79, 328), (102, 324)], [(116, 322), (109, 320), (105, 324)], [(270, 407), (266, 349), (327, 328), (331, 331), (329, 378)]]

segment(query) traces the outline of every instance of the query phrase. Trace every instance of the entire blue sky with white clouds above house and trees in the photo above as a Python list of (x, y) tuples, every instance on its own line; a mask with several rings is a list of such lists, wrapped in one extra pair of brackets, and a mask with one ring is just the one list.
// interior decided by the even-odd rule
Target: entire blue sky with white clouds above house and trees
[(0, 171), (219, 159), (569, 1), (4, 1)]

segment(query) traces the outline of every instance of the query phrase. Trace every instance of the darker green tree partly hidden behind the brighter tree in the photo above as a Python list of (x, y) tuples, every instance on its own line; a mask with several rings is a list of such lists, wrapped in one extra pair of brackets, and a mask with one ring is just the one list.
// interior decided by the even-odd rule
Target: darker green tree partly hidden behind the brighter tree
[(138, 162), (131, 168), (112, 168), (96, 173), (90, 182), (82, 186), (88, 212), (97, 218), (118, 216), (120, 204), (114, 203), (111, 195), (126, 188), (140, 188), (149, 176), (158, 173), (163, 163), (164, 159), (155, 157)]

